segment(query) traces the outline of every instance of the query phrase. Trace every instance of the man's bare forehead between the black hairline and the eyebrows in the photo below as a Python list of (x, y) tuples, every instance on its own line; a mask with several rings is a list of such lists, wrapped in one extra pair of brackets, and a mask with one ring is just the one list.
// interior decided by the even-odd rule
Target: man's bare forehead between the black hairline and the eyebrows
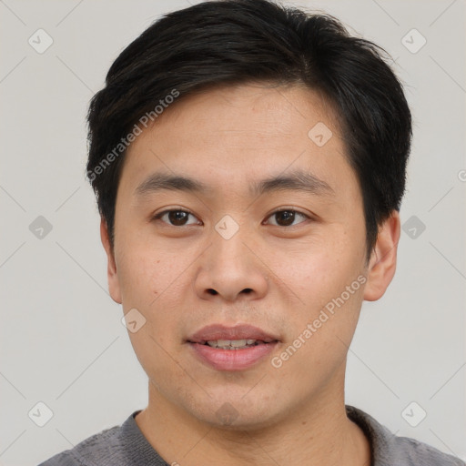
[(303, 86), (222, 86), (180, 96), (128, 148), (122, 178), (134, 191), (162, 170), (196, 177), (206, 190), (243, 190), (247, 180), (309, 171), (330, 191), (345, 177), (356, 182), (335, 121), (325, 99)]

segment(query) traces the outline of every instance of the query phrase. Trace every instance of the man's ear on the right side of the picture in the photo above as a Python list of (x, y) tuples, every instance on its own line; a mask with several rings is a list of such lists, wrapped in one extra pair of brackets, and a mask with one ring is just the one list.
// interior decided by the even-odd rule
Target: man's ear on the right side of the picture
[(389, 287), (397, 266), (397, 250), (400, 241), (400, 213), (393, 210), (379, 228), (377, 242), (370, 255), (368, 281), (364, 299), (380, 299)]

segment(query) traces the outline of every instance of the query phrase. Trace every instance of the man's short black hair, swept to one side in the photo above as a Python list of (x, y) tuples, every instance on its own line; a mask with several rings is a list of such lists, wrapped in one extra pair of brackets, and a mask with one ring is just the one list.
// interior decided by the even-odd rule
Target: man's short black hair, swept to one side
[(268, 0), (208, 1), (158, 18), (117, 57), (89, 106), (87, 177), (112, 248), (131, 133), (175, 98), (267, 82), (304, 85), (335, 110), (360, 183), (369, 261), (380, 224), (400, 210), (410, 153), (410, 108), (389, 59), (332, 15)]

